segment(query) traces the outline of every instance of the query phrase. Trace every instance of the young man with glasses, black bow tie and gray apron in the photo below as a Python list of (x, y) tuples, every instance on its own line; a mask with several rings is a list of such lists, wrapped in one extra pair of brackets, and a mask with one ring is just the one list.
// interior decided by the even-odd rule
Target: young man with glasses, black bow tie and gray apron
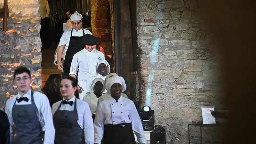
[(43, 93), (31, 91), (28, 68), (18, 67), (13, 76), (18, 94), (7, 100), (5, 106), (11, 143), (54, 144), (55, 129), (48, 98)]

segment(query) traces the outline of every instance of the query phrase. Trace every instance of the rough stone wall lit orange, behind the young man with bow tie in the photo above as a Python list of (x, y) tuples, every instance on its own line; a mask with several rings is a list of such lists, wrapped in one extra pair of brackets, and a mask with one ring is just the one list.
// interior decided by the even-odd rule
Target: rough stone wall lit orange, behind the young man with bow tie
[[(0, 6), (3, 1), (0, 2)], [(0, 18), (0, 109), (17, 94), (13, 72), (18, 66), (31, 71), (35, 91), (41, 91), (41, 39), (38, 0), (8, 0), (7, 31)]]

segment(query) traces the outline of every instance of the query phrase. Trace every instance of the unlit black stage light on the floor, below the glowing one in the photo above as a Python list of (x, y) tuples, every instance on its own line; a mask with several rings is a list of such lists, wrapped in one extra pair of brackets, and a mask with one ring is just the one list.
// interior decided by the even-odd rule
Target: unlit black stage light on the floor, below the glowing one
[(166, 144), (164, 127), (160, 126), (150, 132), (150, 144)]

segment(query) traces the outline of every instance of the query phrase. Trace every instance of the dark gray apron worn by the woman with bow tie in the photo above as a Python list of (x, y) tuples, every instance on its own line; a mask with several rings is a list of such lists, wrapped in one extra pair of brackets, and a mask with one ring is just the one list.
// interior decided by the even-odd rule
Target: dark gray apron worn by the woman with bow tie
[(54, 144), (85, 144), (84, 130), (77, 123), (78, 114), (75, 107), (73, 111), (60, 110), (60, 105), (53, 115), (53, 124), (55, 128)]

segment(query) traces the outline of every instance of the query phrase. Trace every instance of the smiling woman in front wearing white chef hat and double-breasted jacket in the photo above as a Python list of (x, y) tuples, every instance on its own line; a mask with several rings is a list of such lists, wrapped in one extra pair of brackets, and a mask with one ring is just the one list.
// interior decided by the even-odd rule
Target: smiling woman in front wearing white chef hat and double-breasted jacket
[(146, 144), (145, 133), (138, 111), (132, 100), (121, 96), (126, 90), (124, 78), (110, 77), (106, 89), (111, 94), (100, 102), (94, 120), (94, 143), (136, 144), (134, 134), (140, 144)]

